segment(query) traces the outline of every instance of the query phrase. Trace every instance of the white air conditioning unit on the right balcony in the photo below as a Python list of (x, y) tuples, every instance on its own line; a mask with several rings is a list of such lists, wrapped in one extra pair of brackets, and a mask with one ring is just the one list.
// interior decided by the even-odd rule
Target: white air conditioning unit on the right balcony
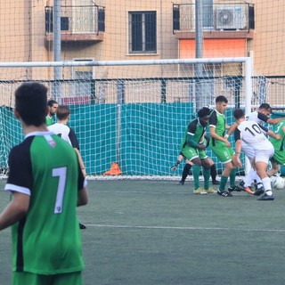
[(243, 6), (216, 8), (216, 29), (243, 29), (248, 26), (248, 17)]

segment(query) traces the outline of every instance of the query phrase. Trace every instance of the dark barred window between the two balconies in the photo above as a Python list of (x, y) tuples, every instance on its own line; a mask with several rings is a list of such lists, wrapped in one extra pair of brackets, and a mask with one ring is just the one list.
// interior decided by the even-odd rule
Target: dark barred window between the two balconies
[(157, 52), (157, 13), (129, 12), (129, 53)]

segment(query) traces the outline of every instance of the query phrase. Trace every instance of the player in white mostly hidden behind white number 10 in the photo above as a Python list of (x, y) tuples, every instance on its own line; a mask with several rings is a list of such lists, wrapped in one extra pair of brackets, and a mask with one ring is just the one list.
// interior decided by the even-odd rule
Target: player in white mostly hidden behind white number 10
[[(268, 134), (269, 136), (273, 137), (274, 139), (279, 140), (281, 138), (280, 135), (276, 135), (273, 133), (272, 130), (268, 130), (264, 125), (269, 124), (269, 125), (276, 125), (278, 124), (281, 120), (284, 118), (269, 118), (269, 116), (272, 113), (272, 108), (268, 103), (262, 103), (258, 110), (255, 110), (249, 114), (246, 115), (247, 120), (252, 120), (255, 121), (259, 126), (262, 127), (262, 130), (264, 134)], [(232, 132), (236, 129), (237, 124), (233, 124), (228, 131), (228, 135), (232, 134)], [(242, 152), (245, 153), (245, 155), (248, 157), (250, 163), (252, 163), (254, 159), (254, 151), (250, 146), (248, 146), (246, 143), (242, 144)], [(259, 176), (256, 174), (256, 169), (251, 167), (249, 170), (248, 175), (245, 176), (244, 182), (242, 182), (244, 190), (247, 191), (248, 193), (254, 193), (249, 186), (251, 185), (252, 181), (256, 180), (257, 183), (257, 189), (261, 190), (262, 189), (262, 182)], [(258, 194), (262, 191), (256, 191), (255, 194)]]

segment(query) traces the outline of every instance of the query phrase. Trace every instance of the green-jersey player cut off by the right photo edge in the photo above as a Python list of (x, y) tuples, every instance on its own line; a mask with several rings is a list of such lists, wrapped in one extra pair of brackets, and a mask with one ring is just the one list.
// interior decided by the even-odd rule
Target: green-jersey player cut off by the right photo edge
[(269, 141), (272, 142), (274, 147), (273, 158), (270, 159), (272, 168), (267, 171), (267, 175), (275, 175), (279, 170), (281, 165), (285, 165), (285, 119), (281, 120), (274, 127), (274, 134), (280, 134), (281, 139), (270, 137)]

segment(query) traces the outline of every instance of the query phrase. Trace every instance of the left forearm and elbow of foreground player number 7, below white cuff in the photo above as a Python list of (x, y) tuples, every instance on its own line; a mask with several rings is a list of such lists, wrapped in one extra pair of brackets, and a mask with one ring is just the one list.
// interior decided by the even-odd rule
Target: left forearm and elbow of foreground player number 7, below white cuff
[(29, 195), (13, 191), (12, 201), (0, 214), (0, 231), (17, 223), (26, 215), (29, 205)]

